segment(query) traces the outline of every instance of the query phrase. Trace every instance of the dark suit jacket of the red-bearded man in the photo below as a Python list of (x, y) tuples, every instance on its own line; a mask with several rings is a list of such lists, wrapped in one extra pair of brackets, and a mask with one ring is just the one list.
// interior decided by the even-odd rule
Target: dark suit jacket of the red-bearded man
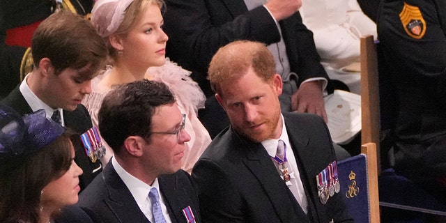
[(316, 175), (334, 161), (325, 123), (312, 114), (284, 113), (284, 118), (309, 201), (308, 215), (265, 148), (228, 128), (213, 139), (192, 169), (203, 222), (353, 222), (341, 194), (325, 205), (318, 199)]

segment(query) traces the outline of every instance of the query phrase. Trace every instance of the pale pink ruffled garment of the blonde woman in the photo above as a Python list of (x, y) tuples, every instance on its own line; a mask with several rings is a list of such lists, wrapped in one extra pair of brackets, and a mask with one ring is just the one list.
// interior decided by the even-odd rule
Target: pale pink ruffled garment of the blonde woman
[[(93, 79), (91, 83), (92, 93), (82, 100), (82, 104), (89, 110), (91, 121), (95, 126), (98, 126), (98, 112), (102, 100), (111, 90), (109, 86), (105, 86), (101, 82), (109, 74), (110, 70), (111, 68), (108, 68)], [(148, 68), (147, 72), (154, 80), (164, 82), (164, 84), (169, 86), (169, 89), (175, 95), (180, 112), (187, 116), (185, 130), (190, 134), (191, 139), (185, 142), (185, 156), (183, 157), (181, 169), (190, 173), (195, 162), (197, 162), (211, 140), (208, 131), (197, 117), (198, 109), (204, 107), (206, 97), (198, 84), (190, 78), (190, 72), (169, 61), (168, 58), (163, 66)], [(113, 151), (102, 137), (101, 140), (107, 150), (105, 156), (101, 159), (105, 167), (105, 164), (112, 157)]]

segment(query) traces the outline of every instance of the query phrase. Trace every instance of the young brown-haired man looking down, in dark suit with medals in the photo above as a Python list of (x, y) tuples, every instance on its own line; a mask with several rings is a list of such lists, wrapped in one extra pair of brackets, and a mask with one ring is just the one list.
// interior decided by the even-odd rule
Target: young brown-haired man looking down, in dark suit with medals
[[(62, 11), (40, 23), (31, 49), (34, 70), (2, 102), (20, 114), (45, 109), (47, 118), (54, 117), (77, 134), (90, 130), (90, 115), (80, 103), (91, 92), (91, 79), (105, 66), (104, 40), (82, 17)], [(102, 166), (98, 159), (87, 156), (79, 136), (72, 143), (75, 161), (84, 171), (79, 176), (79, 185), (84, 189)]]

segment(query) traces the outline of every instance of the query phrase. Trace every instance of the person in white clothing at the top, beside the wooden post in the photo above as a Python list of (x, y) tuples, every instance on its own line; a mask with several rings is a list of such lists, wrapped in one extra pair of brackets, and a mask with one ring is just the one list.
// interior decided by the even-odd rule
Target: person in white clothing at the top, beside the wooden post
[(302, 21), (313, 31), (321, 63), (330, 79), (360, 94), (360, 37), (373, 35), (376, 24), (356, 0), (302, 0)]

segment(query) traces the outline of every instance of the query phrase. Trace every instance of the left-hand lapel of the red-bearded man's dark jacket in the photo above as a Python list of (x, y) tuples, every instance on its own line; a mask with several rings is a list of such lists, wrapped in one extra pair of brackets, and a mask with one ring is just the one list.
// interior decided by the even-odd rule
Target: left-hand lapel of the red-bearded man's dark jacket
[[(234, 133), (234, 135), (236, 134)], [(261, 144), (243, 139), (236, 139), (236, 141), (240, 142), (240, 148), (247, 151), (246, 160), (243, 162), (259, 180), (281, 221), (298, 222), (305, 219), (305, 213), (300, 206), (295, 205), (297, 201), (290, 196), (291, 192), (283, 180), (278, 177), (275, 165), (265, 148)]]

